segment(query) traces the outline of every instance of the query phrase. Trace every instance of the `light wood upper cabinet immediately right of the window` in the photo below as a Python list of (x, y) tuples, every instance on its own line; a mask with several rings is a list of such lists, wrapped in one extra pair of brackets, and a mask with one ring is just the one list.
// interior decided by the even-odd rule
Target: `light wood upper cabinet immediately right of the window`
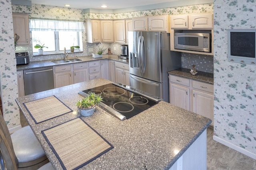
[(86, 20), (88, 43), (114, 42), (112, 20)]

